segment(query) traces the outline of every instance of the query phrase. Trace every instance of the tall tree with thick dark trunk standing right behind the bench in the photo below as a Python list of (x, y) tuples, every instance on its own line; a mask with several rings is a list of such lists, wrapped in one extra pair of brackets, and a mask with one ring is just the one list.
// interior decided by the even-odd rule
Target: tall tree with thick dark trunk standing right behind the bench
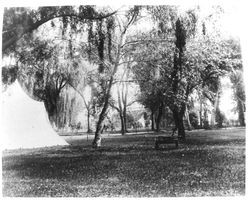
[[(157, 53), (157, 51), (156, 53), (157, 55), (160, 54), (162, 59), (160, 63), (159, 60), (156, 60), (156, 64), (154, 64), (154, 67), (157, 67), (158, 61), (162, 67), (159, 92), (164, 99), (160, 100), (159, 112), (161, 112), (163, 101), (165, 101), (173, 112), (178, 135), (185, 138), (183, 116), (186, 111), (186, 102), (193, 86), (188, 84), (187, 77), (185, 77), (187, 72), (184, 70), (184, 51), (186, 40), (191, 38), (195, 31), (196, 16), (190, 11), (186, 16), (178, 17), (176, 8), (170, 6), (153, 7), (150, 8), (150, 11), (153, 13), (156, 21), (159, 22), (158, 32), (154, 36), (156, 35), (168, 42), (168, 48), (164, 47), (166, 42), (164, 45), (160, 44), (157, 46), (158, 50), (160, 49), (160, 53)], [(168, 24), (169, 27), (166, 26)]]

